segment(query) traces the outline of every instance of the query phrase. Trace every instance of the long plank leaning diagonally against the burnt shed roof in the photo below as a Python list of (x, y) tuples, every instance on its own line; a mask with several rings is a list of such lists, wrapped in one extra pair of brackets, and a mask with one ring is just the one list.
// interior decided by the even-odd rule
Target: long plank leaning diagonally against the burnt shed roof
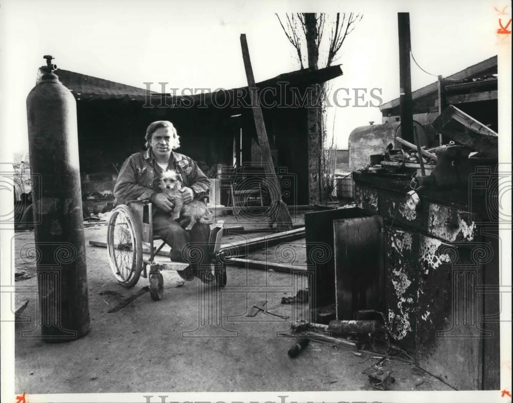
[[(255, 128), (257, 129), (257, 137), (260, 145), (260, 152), (262, 154), (262, 161), (268, 164), (270, 172), (265, 175), (269, 179), (270, 184), (274, 189), (269, 189), (271, 197), (270, 206), (270, 226), (276, 225), (279, 231), (288, 231), (292, 229), (292, 219), (287, 209), (287, 205), (281, 198), (281, 187), (278, 178), (274, 171), (274, 163), (272, 162), (271, 149), (269, 147), (269, 140), (267, 139), (267, 131), (265, 130), (264, 116), (260, 108), (260, 100), (257, 94), (257, 85), (253, 76), (253, 68), (251, 67), (251, 60), (249, 58), (248, 42), (246, 34), (241, 34), (241, 47), (242, 58), (244, 60), (244, 68), (246, 70), (246, 78), (248, 80), (249, 93), (251, 97), (251, 109), (253, 110), (253, 118), (255, 121)], [(272, 191), (274, 190), (274, 191)]]

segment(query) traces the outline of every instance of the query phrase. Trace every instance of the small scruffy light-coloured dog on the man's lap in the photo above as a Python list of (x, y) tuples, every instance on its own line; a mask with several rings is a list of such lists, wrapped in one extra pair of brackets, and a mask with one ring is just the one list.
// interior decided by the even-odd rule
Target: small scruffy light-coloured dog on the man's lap
[(173, 200), (173, 220), (179, 219), (180, 214), (184, 217), (190, 218), (191, 221), (185, 229), (192, 229), (196, 221), (200, 221), (202, 224), (210, 224), (213, 217), (205, 203), (199, 200), (192, 200), (189, 203), (184, 203), (182, 201), (182, 183), (180, 182), (175, 170), (168, 169), (163, 172), (160, 178), (159, 187), (164, 193), (171, 196)]

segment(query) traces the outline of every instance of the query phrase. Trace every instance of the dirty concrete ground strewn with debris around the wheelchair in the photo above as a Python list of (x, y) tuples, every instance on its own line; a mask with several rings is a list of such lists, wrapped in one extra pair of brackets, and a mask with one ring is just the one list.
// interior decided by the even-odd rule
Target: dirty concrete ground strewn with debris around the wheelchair
[[(233, 217), (227, 221), (236, 224)], [(304, 314), (304, 306), (292, 311), (291, 305), (281, 304), (282, 296), (297, 289), (291, 275), (229, 266), (227, 286), (212, 292), (197, 279), (182, 285), (168, 272), (161, 301), (143, 293), (127, 304), (125, 299), (148, 280), (141, 278), (132, 289), (117, 284), (107, 250), (88, 245), (89, 240), (105, 240), (105, 225), (87, 227), (85, 237), (91, 330), (81, 339), (49, 344), (21, 336), (24, 331), (39, 334), (34, 321), (36, 278), (28, 278), (34, 273), (33, 261), (20, 257), (24, 245), (33, 242), (33, 232), (15, 235), (16, 269), (26, 272), (20, 277), (25, 279), (16, 282), (16, 299), (29, 298), (24, 314), (30, 318), (16, 324), (17, 393), (374, 390), (362, 374), (377, 361), (372, 353), (355, 356), (350, 350), (311, 342), (297, 358), (288, 357), (293, 339), (279, 333)], [(233, 242), (242, 236), (225, 238), (224, 242)], [(287, 259), (298, 265), (306, 259), (304, 240), (269, 248), (253, 258), (278, 261), (284, 251), (296, 251)], [(245, 316), (260, 300), (268, 301), (268, 310), (290, 318), (262, 312)], [(221, 309), (215, 311), (215, 306)], [(450, 390), (412, 364), (392, 359), (391, 365), (396, 378), (391, 390)]]

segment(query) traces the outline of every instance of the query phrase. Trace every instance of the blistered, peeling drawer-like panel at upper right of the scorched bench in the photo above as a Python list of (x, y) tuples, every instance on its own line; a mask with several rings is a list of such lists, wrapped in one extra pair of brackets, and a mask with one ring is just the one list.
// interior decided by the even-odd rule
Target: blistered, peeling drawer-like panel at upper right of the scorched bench
[(428, 232), (448, 242), (472, 241), (477, 234), (476, 223), (469, 213), (453, 207), (429, 205)]

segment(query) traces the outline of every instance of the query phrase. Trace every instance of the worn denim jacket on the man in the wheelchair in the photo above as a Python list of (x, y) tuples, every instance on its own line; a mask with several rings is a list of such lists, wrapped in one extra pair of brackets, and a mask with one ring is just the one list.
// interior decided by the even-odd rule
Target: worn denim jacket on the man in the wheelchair
[[(182, 184), (194, 191), (194, 197), (208, 194), (210, 182), (196, 163), (187, 156), (171, 151), (168, 169), (176, 170)], [(128, 200), (147, 200), (160, 191), (162, 168), (156, 163), (151, 147), (132, 154), (123, 163), (114, 185), (116, 205)]]

